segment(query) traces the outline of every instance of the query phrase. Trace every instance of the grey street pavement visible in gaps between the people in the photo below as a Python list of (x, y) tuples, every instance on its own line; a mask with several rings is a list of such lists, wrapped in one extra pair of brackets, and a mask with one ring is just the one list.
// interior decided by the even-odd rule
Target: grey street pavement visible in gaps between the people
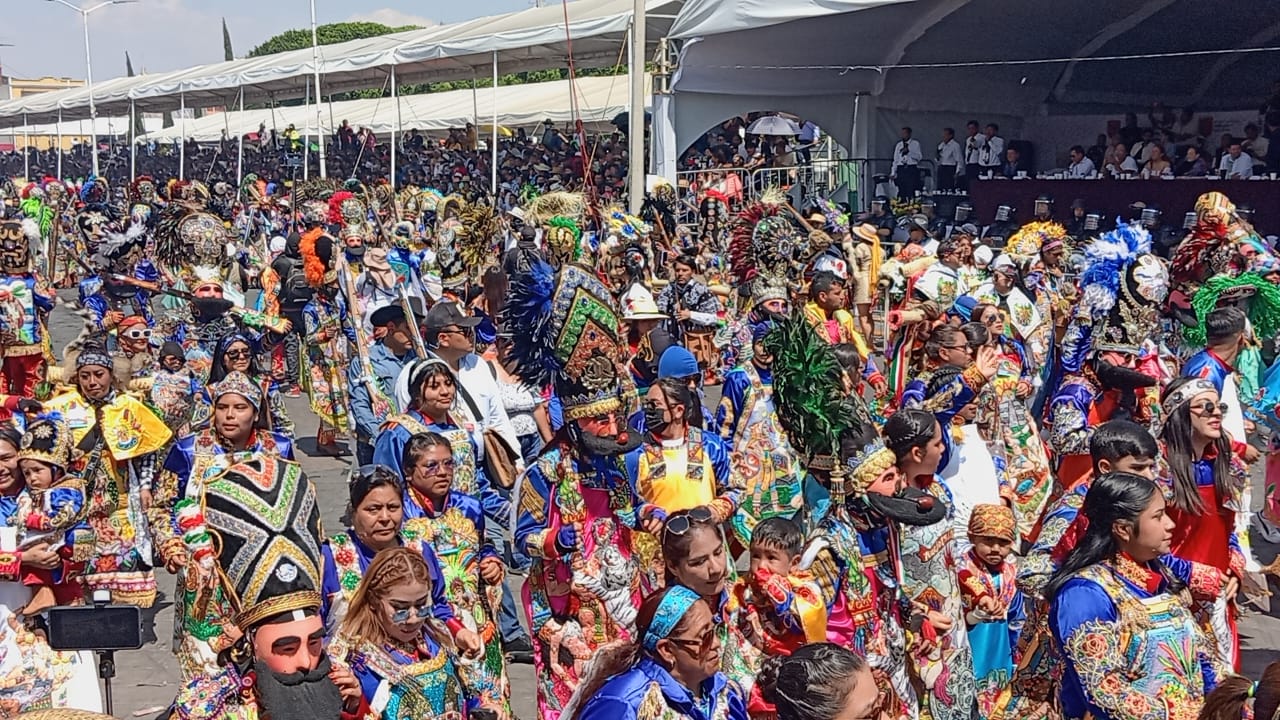
[[(67, 292), (63, 296), (72, 297)], [(63, 346), (79, 333), (77, 323), (78, 320), (65, 307), (59, 306), (54, 311), (50, 324), (54, 348), (59, 355)], [(320, 495), (324, 527), (329, 533), (337, 532), (342, 528), (339, 518), (347, 502), (346, 473), (349, 459), (315, 455), (316, 418), (307, 407), (306, 398), (285, 398), (285, 406), (298, 428), (298, 459)], [(1254, 506), (1261, 506), (1262, 500), (1261, 474), (1256, 471)], [(1266, 546), (1256, 546), (1256, 551), (1263, 562), (1270, 561), (1276, 553), (1275, 547)], [(118, 676), (113, 683), (116, 717), (154, 717), (169, 705), (177, 692), (178, 669), (169, 650), (173, 635), (173, 578), (163, 570), (157, 574), (163, 594), (157, 606), (147, 615), (147, 642), (142, 650), (116, 656)], [(1280, 588), (1272, 584), (1272, 591), (1276, 589)], [(1280, 601), (1270, 615), (1249, 609), (1249, 614), (1240, 621), (1244, 671), (1253, 678), (1277, 657), (1280, 619), (1276, 615), (1280, 615)], [(535, 716), (532, 667), (512, 666), (511, 679), (516, 715), (531, 720)]]

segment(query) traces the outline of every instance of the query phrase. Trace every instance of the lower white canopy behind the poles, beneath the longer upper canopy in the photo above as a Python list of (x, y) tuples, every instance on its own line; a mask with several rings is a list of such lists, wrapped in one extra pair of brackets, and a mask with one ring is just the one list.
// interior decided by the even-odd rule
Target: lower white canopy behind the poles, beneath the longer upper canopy
[[(530, 127), (543, 120), (558, 124), (575, 119), (571, 86), (576, 85), (577, 106), (581, 120), (588, 126), (602, 126), (627, 109), (627, 77), (586, 77), (576, 83), (567, 79), (529, 85), (500, 86), (497, 92), (498, 124), (509, 127)], [(321, 114), (325, 119), (325, 135), (332, 133), (329, 118), (340, 124), (347, 120), (352, 129), (366, 127), (381, 138), (396, 131), (419, 129), (439, 132), (461, 128), (468, 122), (484, 126), (493, 122), (493, 88), (453, 90), (428, 95), (407, 95), (397, 101), (390, 97), (351, 100), (325, 106)], [(479, 111), (479, 122), (476, 113)], [(227, 131), (228, 137), (239, 137), (257, 132), (261, 124), (283, 131), (294, 126), (298, 132), (316, 135), (316, 110), (314, 105), (294, 105), (288, 108), (215, 113), (197, 120), (175, 123), (173, 127), (156, 129), (142, 137), (145, 141), (170, 141), (179, 137), (193, 137), (197, 141), (216, 141)]]

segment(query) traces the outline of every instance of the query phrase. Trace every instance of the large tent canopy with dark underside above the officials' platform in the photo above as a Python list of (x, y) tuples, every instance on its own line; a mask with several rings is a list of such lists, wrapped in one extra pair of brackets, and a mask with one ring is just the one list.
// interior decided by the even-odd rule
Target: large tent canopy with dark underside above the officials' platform
[[(1230, 17), (1248, 17), (1251, 29), (1222, 23)], [(654, 122), (675, 127), (677, 150), (728, 117), (786, 110), (865, 152), (867, 120), (883, 110), (1024, 118), (1155, 101), (1256, 108), (1280, 56), (1256, 50), (1277, 45), (1280, 4), (687, 0), (671, 37), (682, 41), (675, 100)], [(1144, 56), (1116, 59), (1134, 55)]]

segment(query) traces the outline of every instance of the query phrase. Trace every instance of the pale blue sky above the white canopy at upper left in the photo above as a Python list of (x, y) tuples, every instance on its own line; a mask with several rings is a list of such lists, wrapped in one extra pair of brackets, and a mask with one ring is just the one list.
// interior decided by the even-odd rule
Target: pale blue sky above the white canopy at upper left
[[(91, 8), (101, 0), (70, 0)], [(522, 10), (534, 0), (315, 0), (320, 24), (375, 20), (385, 24), (451, 23)], [(13, 77), (84, 77), (79, 14), (49, 0), (3, 0), (0, 68)], [(308, 0), (137, 0), (90, 15), (93, 79), (124, 74), (124, 53), (138, 73), (161, 73), (223, 60), (221, 18), (236, 56), (268, 37), (311, 23)]]

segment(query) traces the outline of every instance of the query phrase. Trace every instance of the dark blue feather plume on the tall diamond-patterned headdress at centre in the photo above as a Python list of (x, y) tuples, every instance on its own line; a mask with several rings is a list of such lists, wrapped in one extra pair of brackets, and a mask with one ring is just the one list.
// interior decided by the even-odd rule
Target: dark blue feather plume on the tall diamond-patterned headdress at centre
[(556, 299), (556, 268), (535, 259), (529, 270), (511, 284), (502, 306), (503, 328), (512, 333), (511, 359), (520, 379), (544, 388), (563, 370), (556, 357), (556, 336), (552, 310)]

